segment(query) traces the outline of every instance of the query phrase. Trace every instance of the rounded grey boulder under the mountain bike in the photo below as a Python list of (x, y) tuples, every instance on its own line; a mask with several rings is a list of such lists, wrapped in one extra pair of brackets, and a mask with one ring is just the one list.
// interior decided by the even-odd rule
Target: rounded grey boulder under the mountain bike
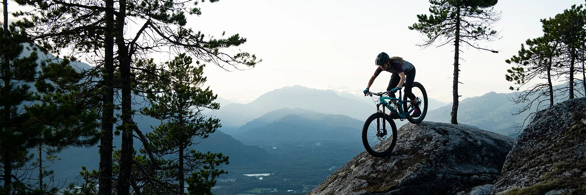
[(503, 135), (425, 121), (397, 138), (388, 158), (362, 152), (308, 194), (490, 194), (513, 146)]

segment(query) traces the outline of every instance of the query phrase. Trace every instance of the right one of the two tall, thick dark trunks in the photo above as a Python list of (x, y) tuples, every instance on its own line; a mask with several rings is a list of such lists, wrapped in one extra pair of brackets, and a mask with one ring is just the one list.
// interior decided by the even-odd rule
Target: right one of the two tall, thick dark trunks
[(132, 132), (134, 131), (134, 114), (131, 107), (131, 56), (128, 56), (128, 47), (124, 42), (124, 26), (126, 18), (126, 0), (120, 1), (120, 11), (117, 15), (116, 43), (118, 46), (118, 60), (120, 61), (120, 81), (122, 88), (122, 146), (120, 151), (120, 175), (118, 176), (118, 195), (130, 193), (130, 179), (132, 169)]

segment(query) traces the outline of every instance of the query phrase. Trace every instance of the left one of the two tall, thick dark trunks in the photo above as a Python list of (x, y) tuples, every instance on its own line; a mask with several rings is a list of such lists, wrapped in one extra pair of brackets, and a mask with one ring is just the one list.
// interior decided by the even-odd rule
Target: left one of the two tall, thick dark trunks
[(114, 139), (114, 0), (105, 1), (106, 30), (104, 40), (105, 93), (101, 118), (100, 178), (98, 195), (112, 194), (112, 141)]

